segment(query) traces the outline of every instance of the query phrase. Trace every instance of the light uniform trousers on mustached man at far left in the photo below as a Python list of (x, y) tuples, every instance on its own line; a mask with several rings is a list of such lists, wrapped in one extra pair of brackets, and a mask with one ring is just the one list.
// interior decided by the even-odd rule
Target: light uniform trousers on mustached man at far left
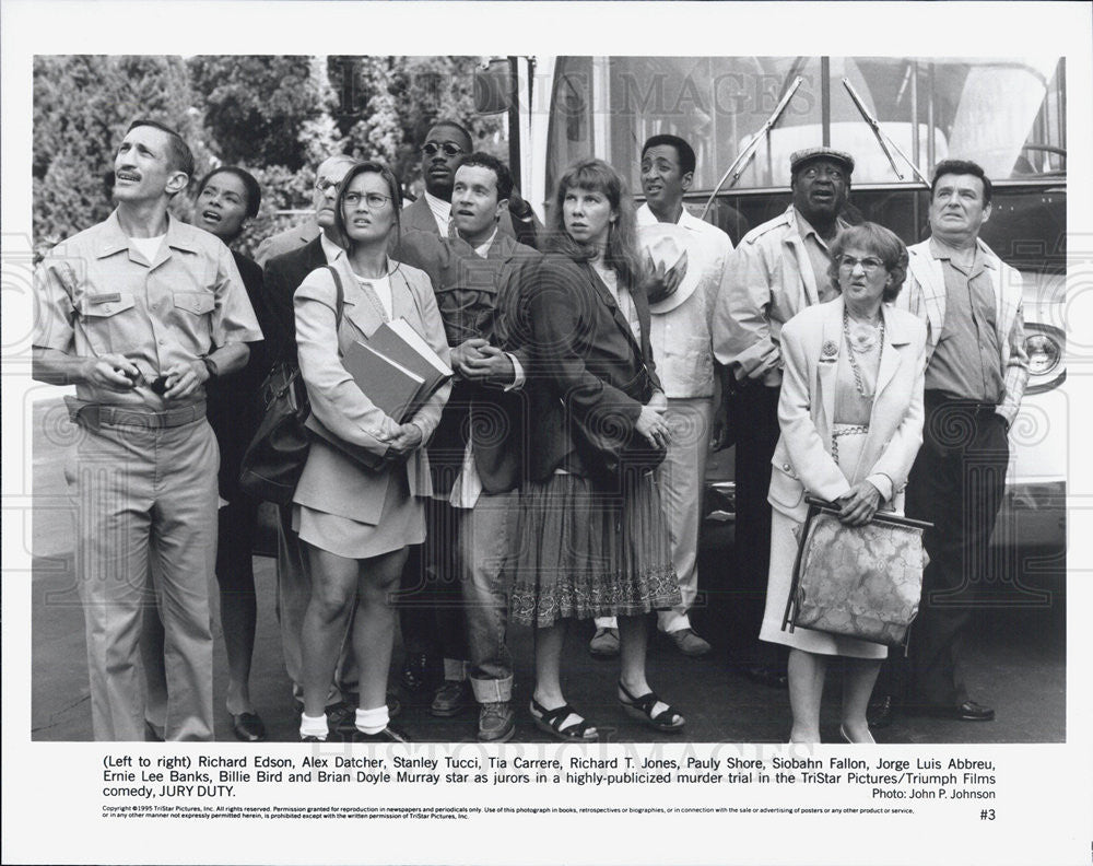
[(220, 452), (204, 419), (81, 429), (66, 466), (96, 740), (144, 739), (139, 641), (151, 567), (163, 617), (165, 738), (211, 740), (209, 582)]

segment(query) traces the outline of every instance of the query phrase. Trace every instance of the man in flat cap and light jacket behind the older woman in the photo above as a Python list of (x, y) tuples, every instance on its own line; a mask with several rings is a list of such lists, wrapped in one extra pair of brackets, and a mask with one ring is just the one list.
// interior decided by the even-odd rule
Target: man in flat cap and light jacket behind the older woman
[[(731, 375), (738, 419), (737, 580), (749, 592), (747, 628), (754, 632), (744, 672), (784, 687), (786, 660), (757, 641), (771, 558), (771, 458), (778, 442), (781, 326), (801, 309), (838, 293), (827, 274), (830, 245), (846, 227), (842, 213), (850, 190), (854, 157), (832, 148), (790, 156), (792, 203), (785, 213), (749, 232), (726, 268), (714, 312), (714, 352)], [(754, 630), (751, 629), (754, 625)]]

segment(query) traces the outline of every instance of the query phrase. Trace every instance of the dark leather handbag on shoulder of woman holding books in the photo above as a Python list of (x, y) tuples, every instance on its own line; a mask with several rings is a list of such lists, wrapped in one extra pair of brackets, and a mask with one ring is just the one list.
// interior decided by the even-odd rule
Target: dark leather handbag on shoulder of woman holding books
[[(336, 329), (341, 325), (345, 295), (341, 277), (327, 266), (338, 292)], [(262, 420), (255, 432), (239, 469), (239, 487), (256, 500), (287, 505), (307, 463), (310, 434), (304, 428), (312, 413), (307, 388), (299, 366), (282, 361), (273, 366), (258, 391)]]

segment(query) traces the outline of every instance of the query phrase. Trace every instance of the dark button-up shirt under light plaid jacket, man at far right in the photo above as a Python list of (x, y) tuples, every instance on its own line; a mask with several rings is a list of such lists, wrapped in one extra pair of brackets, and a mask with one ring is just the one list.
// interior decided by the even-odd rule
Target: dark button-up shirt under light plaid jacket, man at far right
[(978, 246), (971, 267), (954, 260), (956, 250), (930, 238), (930, 255), (945, 280), (945, 320), (926, 367), (926, 389), (949, 397), (998, 403), (1003, 396), (999, 366), (995, 291), (987, 257)]

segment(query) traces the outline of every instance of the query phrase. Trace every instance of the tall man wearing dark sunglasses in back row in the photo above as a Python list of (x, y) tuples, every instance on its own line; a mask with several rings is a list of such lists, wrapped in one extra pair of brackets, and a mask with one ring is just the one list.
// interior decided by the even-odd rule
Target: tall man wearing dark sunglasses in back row
[[(470, 132), (455, 120), (438, 120), (421, 145), (421, 173), (425, 191), (409, 204), (402, 214), (402, 230), (430, 232), (447, 237), (451, 222), (451, 188), (459, 161), (470, 154)], [(542, 225), (536, 220), (531, 207), (514, 194), (502, 208), (498, 231), (534, 246), (534, 238)]]

